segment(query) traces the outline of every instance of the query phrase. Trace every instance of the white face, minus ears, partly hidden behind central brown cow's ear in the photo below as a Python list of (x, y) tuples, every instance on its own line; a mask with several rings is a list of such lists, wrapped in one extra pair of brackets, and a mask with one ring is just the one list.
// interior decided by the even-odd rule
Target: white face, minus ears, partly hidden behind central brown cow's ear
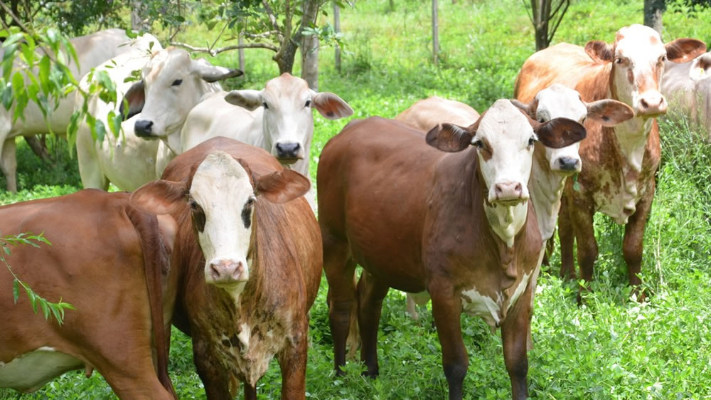
[[(548, 122), (553, 118), (564, 117), (584, 124), (587, 118), (587, 107), (580, 100), (580, 94), (560, 83), (541, 90), (535, 98), (538, 100), (535, 115), (538, 122)], [(550, 170), (565, 174), (580, 172), (582, 160), (578, 154), (579, 149), (580, 142), (560, 149), (545, 147), (545, 159), (548, 160)]]

